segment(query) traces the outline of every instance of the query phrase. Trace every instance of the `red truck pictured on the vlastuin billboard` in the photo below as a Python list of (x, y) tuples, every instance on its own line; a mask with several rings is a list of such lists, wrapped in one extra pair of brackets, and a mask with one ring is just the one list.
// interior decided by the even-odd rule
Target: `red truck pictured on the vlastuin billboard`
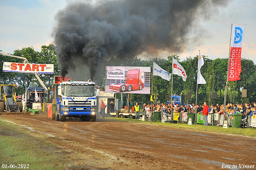
[(144, 72), (140, 69), (128, 70), (126, 84), (110, 84), (109, 90), (116, 92), (132, 91), (132, 90), (142, 90), (144, 88)]

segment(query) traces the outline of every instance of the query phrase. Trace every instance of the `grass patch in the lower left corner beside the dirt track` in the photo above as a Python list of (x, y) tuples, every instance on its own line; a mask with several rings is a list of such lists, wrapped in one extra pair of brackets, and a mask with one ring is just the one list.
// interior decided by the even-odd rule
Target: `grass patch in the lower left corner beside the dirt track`
[[(61, 148), (50, 144), (41, 136), (32, 136), (30, 132), (22, 130), (22, 127), (0, 120), (0, 168), (10, 164), (17, 167), (24, 165), (32, 170), (62, 170), (64, 165), (60, 163), (56, 153)], [(22, 169), (22, 168), (21, 168)]]

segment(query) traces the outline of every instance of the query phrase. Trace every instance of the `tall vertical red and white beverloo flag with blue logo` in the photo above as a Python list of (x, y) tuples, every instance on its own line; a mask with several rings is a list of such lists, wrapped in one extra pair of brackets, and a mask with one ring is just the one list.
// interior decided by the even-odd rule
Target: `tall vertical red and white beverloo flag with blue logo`
[(241, 52), (245, 26), (246, 25), (232, 24), (228, 81), (240, 80)]

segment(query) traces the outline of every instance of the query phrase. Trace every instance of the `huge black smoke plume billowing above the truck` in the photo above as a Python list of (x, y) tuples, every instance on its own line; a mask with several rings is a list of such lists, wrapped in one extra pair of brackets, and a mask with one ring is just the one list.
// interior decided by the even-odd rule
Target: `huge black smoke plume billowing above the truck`
[(208, 18), (224, 0), (72, 1), (56, 14), (52, 35), (60, 74), (85, 65), (90, 78), (102, 58), (162, 50), (179, 52), (198, 18)]

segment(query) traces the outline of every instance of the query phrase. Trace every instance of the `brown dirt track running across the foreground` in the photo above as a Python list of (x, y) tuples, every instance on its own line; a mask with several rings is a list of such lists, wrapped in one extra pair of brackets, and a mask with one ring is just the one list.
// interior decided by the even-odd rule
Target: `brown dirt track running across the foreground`
[[(256, 139), (242, 136), (178, 130), (124, 122), (49, 120), (45, 115), (0, 116), (44, 132), (46, 140), (80, 159), (70, 168), (89, 169), (223, 169), (222, 164), (255, 165)], [(32, 132), (32, 133), (39, 133)], [(232, 168), (230, 168), (232, 169)]]

